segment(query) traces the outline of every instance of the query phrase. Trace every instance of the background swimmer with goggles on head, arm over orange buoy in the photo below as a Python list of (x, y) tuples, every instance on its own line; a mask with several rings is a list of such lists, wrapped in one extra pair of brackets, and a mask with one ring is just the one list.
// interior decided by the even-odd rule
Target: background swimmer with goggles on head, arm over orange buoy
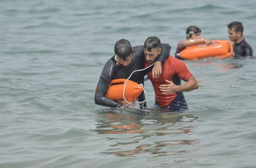
[(201, 31), (202, 30), (200, 28), (198, 28), (196, 26), (193, 26), (193, 25), (189, 26), (187, 28), (187, 30), (186, 30), (187, 40), (180, 41), (178, 43), (176, 53), (175, 53), (175, 58), (183, 59), (183, 58), (179, 57), (178, 54), (188, 46), (198, 44), (198, 43), (201, 43), (201, 42), (204, 42), (207, 45), (212, 44), (212, 41), (210, 39), (201, 38)]

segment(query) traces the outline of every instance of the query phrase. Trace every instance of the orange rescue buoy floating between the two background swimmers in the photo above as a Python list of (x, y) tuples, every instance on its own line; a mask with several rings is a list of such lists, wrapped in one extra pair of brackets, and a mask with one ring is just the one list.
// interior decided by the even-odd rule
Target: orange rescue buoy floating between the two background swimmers
[(216, 58), (227, 58), (233, 54), (233, 44), (228, 40), (213, 40), (213, 45), (199, 43), (183, 49), (179, 57), (183, 59), (201, 59), (217, 56)]

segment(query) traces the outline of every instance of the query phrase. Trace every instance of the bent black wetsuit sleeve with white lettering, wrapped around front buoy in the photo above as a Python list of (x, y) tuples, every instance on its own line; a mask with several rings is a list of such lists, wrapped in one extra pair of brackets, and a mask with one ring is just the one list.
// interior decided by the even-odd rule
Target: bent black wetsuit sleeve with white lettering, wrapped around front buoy
[(121, 107), (123, 104), (117, 101), (108, 99), (105, 95), (110, 85), (114, 73), (114, 62), (109, 60), (102, 69), (101, 76), (97, 85), (94, 96), (95, 104), (107, 107)]

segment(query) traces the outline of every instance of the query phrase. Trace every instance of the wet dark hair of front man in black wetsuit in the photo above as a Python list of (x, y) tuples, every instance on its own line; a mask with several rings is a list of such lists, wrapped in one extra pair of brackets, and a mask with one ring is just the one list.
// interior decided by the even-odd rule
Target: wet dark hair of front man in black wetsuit
[(122, 60), (127, 60), (127, 57), (132, 53), (131, 43), (126, 39), (118, 40), (115, 43), (115, 54)]

